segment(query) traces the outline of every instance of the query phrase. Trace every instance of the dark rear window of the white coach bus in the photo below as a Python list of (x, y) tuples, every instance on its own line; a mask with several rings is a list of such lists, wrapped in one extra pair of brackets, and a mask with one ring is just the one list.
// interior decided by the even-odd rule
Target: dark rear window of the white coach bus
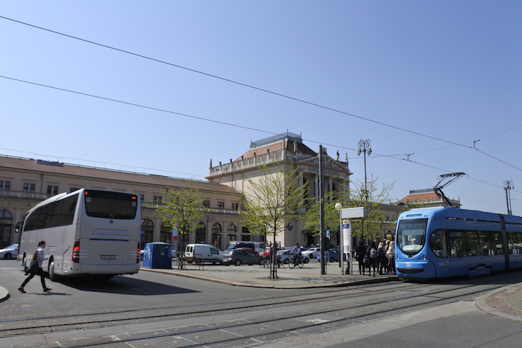
[(138, 198), (129, 193), (85, 191), (85, 210), (88, 216), (106, 219), (134, 219)]

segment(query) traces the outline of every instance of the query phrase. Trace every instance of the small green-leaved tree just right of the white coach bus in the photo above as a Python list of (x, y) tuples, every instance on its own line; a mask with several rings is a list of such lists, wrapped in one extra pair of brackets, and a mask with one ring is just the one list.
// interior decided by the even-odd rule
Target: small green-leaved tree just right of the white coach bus
[(161, 217), (167, 228), (177, 229), (184, 253), (190, 235), (196, 231), (195, 222), (203, 218), (207, 212), (203, 207), (203, 200), (208, 198), (203, 197), (201, 191), (190, 180), (185, 182), (185, 187), (166, 187), (161, 193), (165, 198), (161, 200), (155, 214)]

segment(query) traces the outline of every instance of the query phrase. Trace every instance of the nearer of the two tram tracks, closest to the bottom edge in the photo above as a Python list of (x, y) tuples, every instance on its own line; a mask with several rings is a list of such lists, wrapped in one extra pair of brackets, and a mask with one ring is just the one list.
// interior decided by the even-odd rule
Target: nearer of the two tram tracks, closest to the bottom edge
[[(198, 324), (187, 326), (183, 329), (160, 329), (136, 334), (114, 335), (111, 337), (93, 338), (85, 342), (74, 340), (60, 342), (60, 345), (56, 347), (136, 347), (136, 344), (141, 346), (145, 345), (145, 342), (147, 345), (165, 345), (167, 341), (170, 342), (169, 347), (221, 347), (222, 345), (227, 345), (227, 347), (250, 347), (260, 342), (284, 339), (286, 336), (287, 338), (296, 338), (301, 335), (339, 329), (413, 310), (461, 301), (496, 287), (495, 285), (484, 286), (484, 288), (481, 287), (477, 290), (474, 289), (475, 286), (453, 286), (449, 289), (428, 292), (420, 290), (419, 293), (408, 296), (395, 294), (395, 296), (391, 296), (392, 298), (381, 302), (386, 303), (386, 306), (389, 307), (375, 306), (372, 299), (360, 299), (359, 301), (346, 303), (344, 306), (340, 306), (338, 303), (335, 303), (335, 306), (332, 303), (326, 303), (328, 306), (322, 306), (314, 310), (296, 310), (285, 315), (253, 317), (237, 322), (223, 322), (213, 325)], [(422, 287), (429, 287), (429, 285)], [(472, 291), (463, 291), (468, 289)], [(409, 287), (396, 292), (407, 292), (408, 290)], [(450, 292), (461, 293), (450, 294), (449, 296), (444, 295)], [(349, 295), (346, 295), (346, 297), (349, 297)], [(419, 301), (421, 298), (422, 301)], [(403, 301), (408, 301), (409, 304), (404, 304)], [(390, 304), (393, 304), (393, 306), (390, 306)], [(363, 310), (363, 313), (361, 313), (361, 310)], [(328, 319), (323, 319), (322, 322), (313, 319), (321, 317)], [(338, 317), (338, 319), (335, 319), (335, 317)], [(129, 346), (125, 345), (127, 343)], [(131, 343), (132, 345), (130, 345)]]

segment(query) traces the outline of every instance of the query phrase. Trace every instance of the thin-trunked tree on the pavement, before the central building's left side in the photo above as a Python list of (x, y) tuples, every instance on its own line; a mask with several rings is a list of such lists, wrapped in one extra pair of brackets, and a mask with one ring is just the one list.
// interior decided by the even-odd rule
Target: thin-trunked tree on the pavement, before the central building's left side
[[(281, 161), (257, 169), (255, 177), (243, 178), (247, 188), (242, 191), (239, 213), (250, 232), (274, 237), (275, 247), (276, 236), (296, 221), (304, 206), (304, 186), (292, 164)], [(277, 278), (276, 253), (271, 252), (270, 256), (270, 278)]]

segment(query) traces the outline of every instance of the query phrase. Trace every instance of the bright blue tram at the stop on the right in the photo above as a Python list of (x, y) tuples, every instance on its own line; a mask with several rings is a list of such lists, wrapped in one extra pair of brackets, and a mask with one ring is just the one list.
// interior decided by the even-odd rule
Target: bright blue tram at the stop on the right
[(400, 214), (395, 269), (406, 279), (482, 276), (522, 267), (522, 218), (458, 208)]

